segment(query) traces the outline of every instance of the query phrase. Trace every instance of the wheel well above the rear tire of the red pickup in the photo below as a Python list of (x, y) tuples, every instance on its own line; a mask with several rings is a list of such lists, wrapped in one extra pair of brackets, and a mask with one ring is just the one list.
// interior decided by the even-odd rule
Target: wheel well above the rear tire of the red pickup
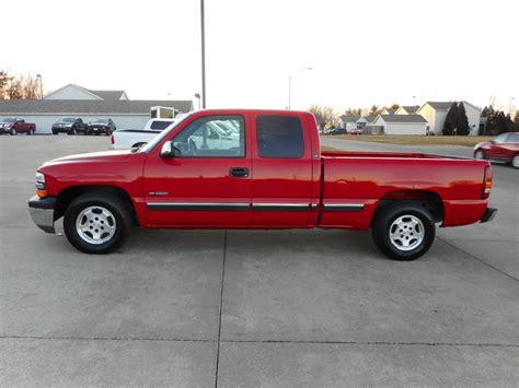
[(402, 201), (418, 203), (430, 212), (435, 222), (443, 221), (443, 202), (438, 193), (427, 190), (396, 190), (387, 192), (382, 196), (377, 205), (371, 223), (385, 208)]

